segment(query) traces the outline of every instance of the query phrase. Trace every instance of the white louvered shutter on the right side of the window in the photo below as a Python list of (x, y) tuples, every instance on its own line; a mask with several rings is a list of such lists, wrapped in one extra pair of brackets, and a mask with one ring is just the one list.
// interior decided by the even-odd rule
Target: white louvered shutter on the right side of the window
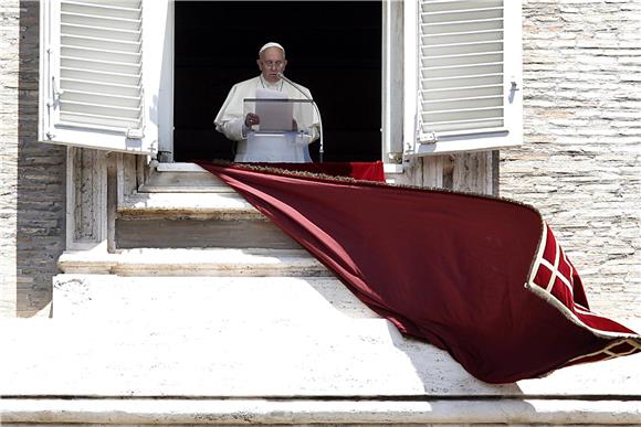
[(483, 150), (522, 142), (517, 3), (418, 2), (414, 153)]

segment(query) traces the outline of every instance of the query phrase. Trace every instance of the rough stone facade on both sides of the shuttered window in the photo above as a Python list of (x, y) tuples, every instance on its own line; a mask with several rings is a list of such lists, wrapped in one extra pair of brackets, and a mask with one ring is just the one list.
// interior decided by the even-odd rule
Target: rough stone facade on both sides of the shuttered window
[[(641, 4), (523, 6), (525, 145), (501, 153), (501, 194), (542, 211), (597, 309), (641, 316)], [(65, 149), (35, 142), (38, 13), (0, 0), (0, 316), (46, 307), (64, 248)]]

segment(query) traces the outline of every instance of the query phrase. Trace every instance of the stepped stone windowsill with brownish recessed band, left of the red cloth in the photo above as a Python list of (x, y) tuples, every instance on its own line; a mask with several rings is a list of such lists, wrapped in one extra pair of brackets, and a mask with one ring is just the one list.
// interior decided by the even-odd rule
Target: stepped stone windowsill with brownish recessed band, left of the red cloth
[(301, 246), (240, 194), (193, 163), (160, 163), (118, 203), (117, 248), (275, 248)]

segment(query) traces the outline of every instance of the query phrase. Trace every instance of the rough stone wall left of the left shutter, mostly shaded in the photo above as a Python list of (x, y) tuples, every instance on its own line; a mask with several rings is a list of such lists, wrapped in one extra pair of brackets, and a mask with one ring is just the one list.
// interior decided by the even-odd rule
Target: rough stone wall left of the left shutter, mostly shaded
[(0, 316), (31, 317), (64, 248), (65, 149), (36, 142), (39, 2), (0, 0)]

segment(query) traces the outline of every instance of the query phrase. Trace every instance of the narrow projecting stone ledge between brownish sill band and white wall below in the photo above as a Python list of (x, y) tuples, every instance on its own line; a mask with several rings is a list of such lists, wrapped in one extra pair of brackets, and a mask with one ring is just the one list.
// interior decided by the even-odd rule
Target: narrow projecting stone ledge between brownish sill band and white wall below
[(136, 248), (107, 254), (67, 250), (59, 268), (69, 274), (120, 276), (330, 276), (303, 249)]

